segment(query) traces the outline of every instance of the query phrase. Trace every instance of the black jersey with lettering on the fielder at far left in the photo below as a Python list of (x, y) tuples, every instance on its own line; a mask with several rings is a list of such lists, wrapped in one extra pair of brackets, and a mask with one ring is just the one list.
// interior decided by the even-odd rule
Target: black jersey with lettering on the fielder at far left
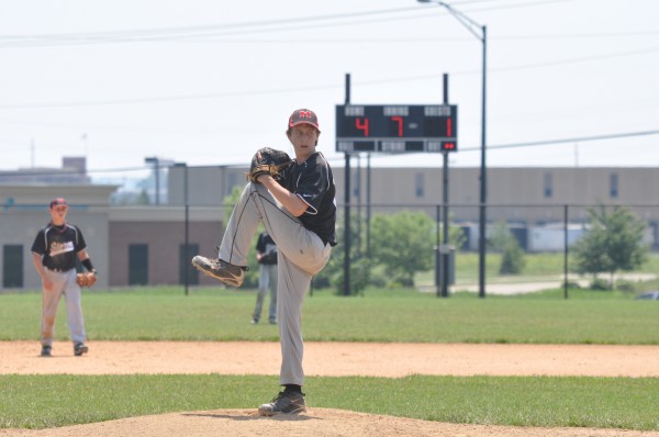
[(48, 223), (32, 244), (32, 251), (43, 256), (42, 264), (51, 270), (70, 270), (76, 267), (78, 253), (87, 248), (85, 237), (77, 226)]

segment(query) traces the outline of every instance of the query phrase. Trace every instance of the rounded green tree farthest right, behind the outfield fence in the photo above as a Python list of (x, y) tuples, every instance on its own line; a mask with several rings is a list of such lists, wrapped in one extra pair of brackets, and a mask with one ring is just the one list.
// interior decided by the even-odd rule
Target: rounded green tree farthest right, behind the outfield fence
[(643, 244), (646, 223), (624, 206), (613, 212), (604, 205), (588, 210), (588, 232), (574, 244), (574, 260), (579, 273), (629, 271), (641, 266), (649, 247)]

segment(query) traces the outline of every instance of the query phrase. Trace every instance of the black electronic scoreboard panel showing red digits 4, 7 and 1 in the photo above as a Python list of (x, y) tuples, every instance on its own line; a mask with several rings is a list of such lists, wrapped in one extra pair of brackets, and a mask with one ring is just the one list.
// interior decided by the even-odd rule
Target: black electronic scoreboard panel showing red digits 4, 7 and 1
[(458, 107), (336, 107), (336, 152), (457, 152)]

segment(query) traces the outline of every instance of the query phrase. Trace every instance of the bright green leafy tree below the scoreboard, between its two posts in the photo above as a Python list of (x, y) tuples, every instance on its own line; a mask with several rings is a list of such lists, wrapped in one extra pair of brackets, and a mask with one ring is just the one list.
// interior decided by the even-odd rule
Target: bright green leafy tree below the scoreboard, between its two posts
[(423, 212), (375, 215), (371, 223), (372, 260), (382, 264), (394, 281), (414, 284), (414, 273), (433, 267), (436, 223)]

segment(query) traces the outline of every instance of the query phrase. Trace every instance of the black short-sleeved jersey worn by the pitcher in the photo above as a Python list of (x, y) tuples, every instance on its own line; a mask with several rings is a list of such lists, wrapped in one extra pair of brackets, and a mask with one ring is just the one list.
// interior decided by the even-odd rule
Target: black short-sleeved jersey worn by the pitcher
[(316, 233), (323, 243), (336, 246), (336, 187), (323, 154), (316, 152), (302, 164), (293, 160), (286, 169), (281, 184), (309, 204), (298, 217), (302, 225)]

